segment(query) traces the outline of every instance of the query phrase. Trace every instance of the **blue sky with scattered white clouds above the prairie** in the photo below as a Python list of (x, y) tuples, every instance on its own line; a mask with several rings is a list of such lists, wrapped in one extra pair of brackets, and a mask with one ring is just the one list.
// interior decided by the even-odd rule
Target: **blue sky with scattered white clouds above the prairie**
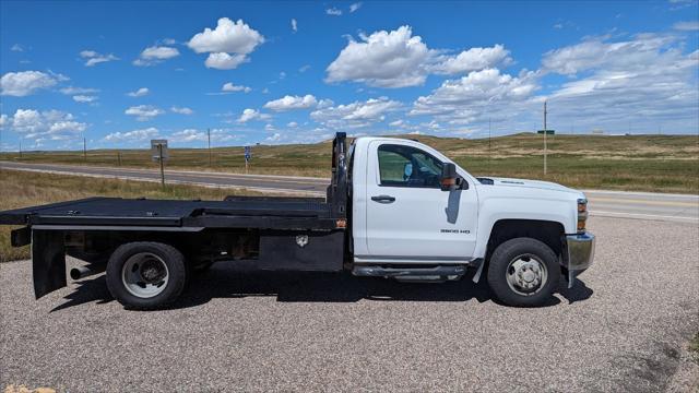
[(0, 1), (2, 151), (699, 133), (699, 2)]

